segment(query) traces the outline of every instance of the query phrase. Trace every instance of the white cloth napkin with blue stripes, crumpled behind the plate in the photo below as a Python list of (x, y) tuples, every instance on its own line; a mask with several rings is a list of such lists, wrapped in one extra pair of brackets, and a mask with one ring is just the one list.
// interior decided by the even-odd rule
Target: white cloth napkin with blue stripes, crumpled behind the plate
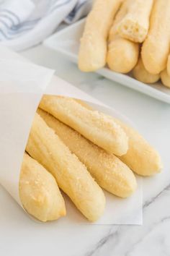
[(42, 42), (61, 22), (84, 17), (91, 0), (0, 0), (0, 41), (22, 51)]

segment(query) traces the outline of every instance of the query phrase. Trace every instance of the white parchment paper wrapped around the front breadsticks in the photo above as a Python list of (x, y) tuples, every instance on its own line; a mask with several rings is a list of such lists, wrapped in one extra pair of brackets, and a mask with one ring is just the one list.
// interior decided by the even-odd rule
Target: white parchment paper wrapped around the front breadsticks
[[(31, 64), (18, 54), (0, 46), (0, 184), (19, 200), (19, 173), (32, 120), (43, 93), (66, 95), (90, 102), (99, 111), (129, 122), (117, 111), (104, 106), (68, 82), (53, 76), (53, 70)], [(104, 192), (107, 207), (97, 224), (142, 224), (142, 184), (128, 199)], [(68, 223), (89, 223), (64, 195)]]

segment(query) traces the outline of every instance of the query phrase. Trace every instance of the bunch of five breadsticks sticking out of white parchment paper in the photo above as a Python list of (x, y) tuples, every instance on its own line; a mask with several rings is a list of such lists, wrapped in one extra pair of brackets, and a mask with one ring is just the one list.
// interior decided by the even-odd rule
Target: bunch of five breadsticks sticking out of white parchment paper
[(133, 128), (55, 95), (42, 97), (26, 152), (19, 195), (40, 221), (66, 215), (60, 189), (89, 221), (97, 221), (105, 208), (102, 188), (129, 197), (137, 187), (133, 171), (151, 176), (161, 170), (160, 156)]

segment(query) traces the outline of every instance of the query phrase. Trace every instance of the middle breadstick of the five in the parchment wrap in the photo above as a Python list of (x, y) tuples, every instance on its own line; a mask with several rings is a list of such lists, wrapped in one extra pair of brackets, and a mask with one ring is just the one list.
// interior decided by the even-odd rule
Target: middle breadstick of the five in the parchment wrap
[(63, 124), (54, 116), (38, 108), (38, 114), (49, 127), (63, 140), (72, 153), (86, 165), (97, 183), (118, 197), (128, 197), (135, 191), (137, 184), (133, 171), (115, 155), (94, 145), (71, 127)]

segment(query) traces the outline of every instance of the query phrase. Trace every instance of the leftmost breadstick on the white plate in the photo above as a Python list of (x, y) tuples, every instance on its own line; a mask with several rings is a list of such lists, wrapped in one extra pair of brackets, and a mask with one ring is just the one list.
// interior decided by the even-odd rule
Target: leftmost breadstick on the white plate
[(104, 67), (107, 35), (122, 0), (96, 0), (86, 18), (79, 49), (79, 69), (91, 72)]

